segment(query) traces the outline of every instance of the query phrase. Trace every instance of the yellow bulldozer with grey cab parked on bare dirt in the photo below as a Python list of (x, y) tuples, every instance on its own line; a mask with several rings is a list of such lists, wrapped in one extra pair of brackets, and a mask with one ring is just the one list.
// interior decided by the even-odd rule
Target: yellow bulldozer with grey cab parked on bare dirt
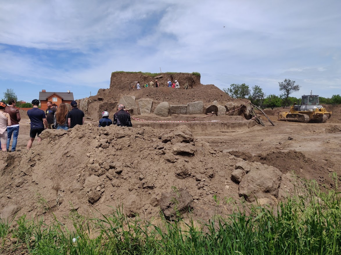
[(294, 104), (290, 107), (290, 112), (279, 113), (278, 120), (296, 122), (325, 123), (331, 116), (331, 111), (319, 104), (318, 95), (302, 96), (301, 104)]

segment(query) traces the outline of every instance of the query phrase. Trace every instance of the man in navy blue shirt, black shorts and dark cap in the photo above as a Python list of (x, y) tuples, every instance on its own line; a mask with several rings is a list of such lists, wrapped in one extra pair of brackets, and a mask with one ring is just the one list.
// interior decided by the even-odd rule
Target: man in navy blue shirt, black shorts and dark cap
[[(31, 130), (30, 130), (30, 140), (27, 143), (27, 149), (31, 149), (32, 143), (34, 141), (35, 136), (38, 136), (38, 142), (41, 142), (41, 138), (39, 135), (44, 129), (47, 129), (47, 120), (45, 112), (38, 108), (39, 100), (34, 99), (32, 101), (33, 108), (27, 111), (27, 115), (31, 121)], [(44, 126), (45, 125), (45, 126)]]

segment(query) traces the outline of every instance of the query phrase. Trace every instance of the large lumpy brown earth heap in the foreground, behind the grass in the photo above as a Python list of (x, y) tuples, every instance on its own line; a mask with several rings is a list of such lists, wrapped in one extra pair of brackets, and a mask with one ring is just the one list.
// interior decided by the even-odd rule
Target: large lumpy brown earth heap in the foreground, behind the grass
[(67, 221), (73, 210), (91, 216), (123, 205), (130, 217), (150, 218), (161, 210), (171, 218), (175, 208), (192, 208), (194, 217), (207, 220), (215, 210), (228, 214), (234, 208), (215, 208), (214, 194), (222, 201), (276, 204), (294, 191), (281, 186), (282, 180), (294, 182), (291, 174), (216, 151), (187, 126), (160, 131), (77, 125), (67, 132), (45, 130), (41, 138), (20, 157), (0, 152), (3, 219), (53, 212)]

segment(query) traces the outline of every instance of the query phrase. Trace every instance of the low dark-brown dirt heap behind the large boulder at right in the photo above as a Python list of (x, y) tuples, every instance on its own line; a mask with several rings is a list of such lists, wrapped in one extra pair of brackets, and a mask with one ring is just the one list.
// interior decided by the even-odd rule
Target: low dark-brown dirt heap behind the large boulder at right
[(306, 157), (303, 153), (294, 150), (287, 152), (273, 151), (268, 154), (257, 154), (252, 156), (250, 153), (240, 151), (229, 152), (236, 157), (240, 157), (244, 160), (251, 162), (260, 162), (269, 166), (278, 168), (283, 174), (289, 172), (295, 172), (299, 177), (316, 180), (322, 187), (333, 188), (334, 182), (330, 177), (332, 165), (323, 160), (323, 164)]

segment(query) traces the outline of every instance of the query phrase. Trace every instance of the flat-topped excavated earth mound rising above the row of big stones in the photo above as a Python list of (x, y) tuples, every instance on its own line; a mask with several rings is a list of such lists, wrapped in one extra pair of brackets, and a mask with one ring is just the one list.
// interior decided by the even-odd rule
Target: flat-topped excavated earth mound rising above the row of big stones
[[(117, 104), (124, 95), (133, 96), (136, 101), (143, 98), (152, 99), (153, 107), (164, 101), (172, 105), (186, 105), (189, 102), (203, 101), (207, 106), (213, 101), (218, 101), (221, 105), (231, 101), (248, 101), (232, 99), (214, 85), (203, 85), (200, 83), (200, 77), (191, 73), (161, 75), (163, 78), (158, 78), (161, 87), (147, 87), (139, 90), (135, 87), (133, 90), (135, 81), (139, 81), (142, 85), (155, 79), (142, 73), (114, 72), (110, 80), (110, 88), (99, 89), (97, 95), (80, 99), (80, 108), (87, 116), (97, 119), (99, 113), (103, 111), (108, 111), (110, 114), (112, 111), (116, 111)], [(168, 79), (172, 79), (171, 76), (173, 80), (180, 83), (179, 89), (167, 87), (166, 83)], [(185, 83), (189, 84), (188, 89), (184, 89)], [(138, 112), (134, 114), (137, 115)]]

